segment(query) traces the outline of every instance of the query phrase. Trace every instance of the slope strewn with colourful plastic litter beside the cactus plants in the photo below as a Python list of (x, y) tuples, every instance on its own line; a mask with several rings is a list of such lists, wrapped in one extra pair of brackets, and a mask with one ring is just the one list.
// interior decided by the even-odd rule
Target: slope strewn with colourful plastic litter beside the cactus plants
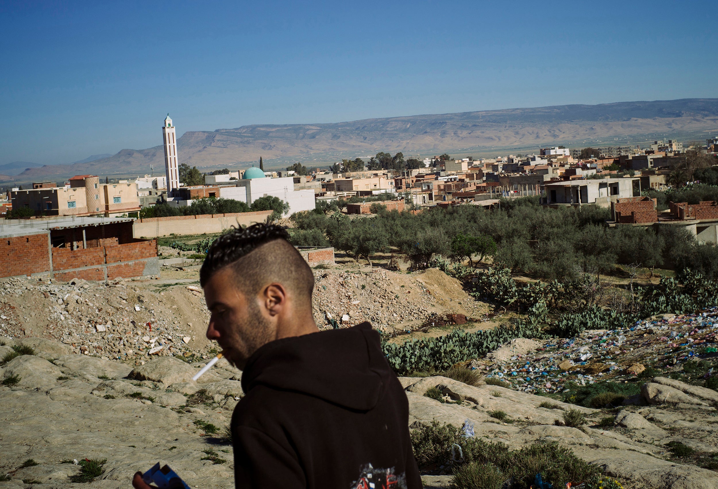
[[(536, 342), (531, 352), (505, 360), (493, 355), (475, 360), (472, 367), (487, 371), (524, 392), (561, 393), (564, 384), (587, 385), (599, 380), (623, 382), (656, 367), (679, 371), (699, 357), (718, 356), (718, 308), (701, 314), (665, 314), (638, 321), (630, 328), (589, 330), (579, 337)], [(540, 345), (540, 346), (539, 346)]]

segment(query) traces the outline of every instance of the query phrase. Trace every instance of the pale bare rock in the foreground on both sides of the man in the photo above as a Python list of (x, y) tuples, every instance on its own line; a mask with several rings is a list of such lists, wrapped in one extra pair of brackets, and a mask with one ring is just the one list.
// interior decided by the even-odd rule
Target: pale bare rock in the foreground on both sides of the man
[[(0, 355), (22, 345), (32, 345), (35, 355), (14, 357), (0, 369), (7, 384), (0, 387), (0, 467), (9, 478), (0, 487), (73, 487), (85, 459), (105, 460), (103, 473), (85, 487), (127, 487), (136, 470), (158, 461), (192, 487), (233, 487), (231, 447), (221, 434), (242, 396), (238, 370), (220, 361), (194, 383), (201, 362), (154, 357), (132, 367), (37, 338), (9, 342)], [(411, 428), (468, 420), (476, 437), (512, 449), (559, 442), (628, 488), (718, 488), (718, 474), (698, 466), (718, 452), (714, 390), (653, 378), (643, 384), (642, 405), (607, 411), (439, 376), (400, 380)], [(424, 396), (429, 388), (439, 388), (444, 399)], [(588, 424), (561, 426), (569, 409), (582, 411)], [(498, 419), (499, 411), (505, 417)], [(694, 450), (693, 458), (677, 459), (670, 442)], [(449, 476), (439, 471), (425, 479), (441, 487)]]

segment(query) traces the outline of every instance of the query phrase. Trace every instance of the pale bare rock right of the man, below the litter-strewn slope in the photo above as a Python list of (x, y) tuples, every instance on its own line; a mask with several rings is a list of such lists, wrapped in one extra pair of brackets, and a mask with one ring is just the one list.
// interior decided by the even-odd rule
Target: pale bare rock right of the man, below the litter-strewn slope
[[(552, 401), (498, 385), (472, 387), (442, 377), (401, 378), (409, 398), (410, 426), (437, 420), (454, 426), (473, 424), (476, 437), (519, 449), (536, 441), (555, 441), (584, 460), (600, 465), (625, 488), (718, 488), (718, 474), (698, 467), (696, 459), (676, 457), (669, 443), (703, 454), (712, 461), (718, 452), (715, 433), (718, 393), (679, 380), (655, 378), (645, 383), (645, 406), (624, 406), (611, 412)], [(424, 396), (438, 387), (453, 401)], [(447, 401), (448, 401), (447, 398)], [(449, 401), (451, 402), (451, 401)], [(580, 429), (564, 425), (569, 409), (582, 411), (588, 423)], [(499, 421), (497, 411), (505, 418)], [(449, 476), (426, 477), (437, 487)]]

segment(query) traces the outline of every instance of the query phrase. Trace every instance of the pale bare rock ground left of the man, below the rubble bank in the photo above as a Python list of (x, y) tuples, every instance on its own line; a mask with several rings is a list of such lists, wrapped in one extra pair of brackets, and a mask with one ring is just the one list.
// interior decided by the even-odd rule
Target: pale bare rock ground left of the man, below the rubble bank
[(231, 447), (220, 434), (241, 387), (233, 380), (240, 373), (226, 362), (197, 384), (198, 365), (173, 357), (133, 369), (50, 340), (14, 344), (34, 344), (37, 355), (2, 368), (4, 379), (17, 376), (18, 383), (0, 388), (0, 464), (9, 478), (0, 487), (74, 487), (85, 459), (106, 462), (98, 479), (77, 487), (129, 487), (134, 472), (157, 461), (192, 487), (233, 487)]

